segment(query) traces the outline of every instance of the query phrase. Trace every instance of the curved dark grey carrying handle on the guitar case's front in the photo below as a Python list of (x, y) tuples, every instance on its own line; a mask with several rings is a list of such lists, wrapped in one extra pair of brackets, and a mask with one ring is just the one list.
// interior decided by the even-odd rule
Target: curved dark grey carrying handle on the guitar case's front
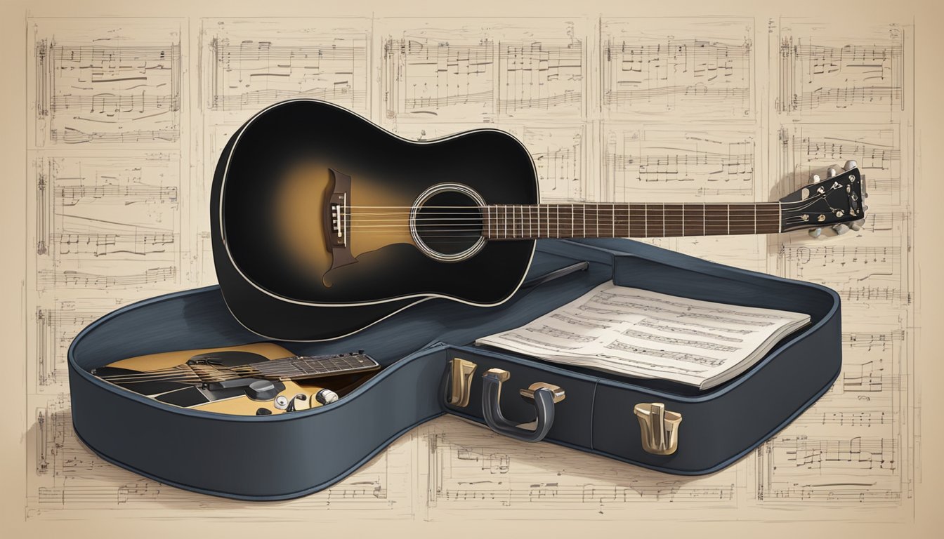
[(554, 424), (554, 404), (564, 400), (564, 390), (559, 386), (541, 381), (532, 383), (528, 389), (520, 390), (522, 397), (534, 400), (534, 408), (537, 411), (537, 427), (534, 430), (522, 429), (501, 414), (501, 405), (498, 402), (501, 398), (501, 383), (510, 378), (512, 378), (511, 373), (497, 368), (488, 369), (482, 375), (481, 414), (485, 418), (485, 424), (498, 434), (504, 434), (522, 442), (544, 440)]

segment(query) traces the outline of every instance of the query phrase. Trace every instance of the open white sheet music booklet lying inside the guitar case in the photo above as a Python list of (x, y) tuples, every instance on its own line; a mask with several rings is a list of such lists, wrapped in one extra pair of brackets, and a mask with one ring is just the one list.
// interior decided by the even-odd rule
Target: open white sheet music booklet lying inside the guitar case
[(658, 294), (606, 282), (532, 320), (476, 340), (549, 362), (708, 389), (732, 379), (792, 331), (799, 312)]

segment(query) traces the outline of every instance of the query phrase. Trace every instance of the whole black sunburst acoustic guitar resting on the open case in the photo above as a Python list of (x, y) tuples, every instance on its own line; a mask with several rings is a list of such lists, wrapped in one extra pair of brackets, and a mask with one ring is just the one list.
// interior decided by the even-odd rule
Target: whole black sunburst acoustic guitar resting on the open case
[(861, 227), (863, 195), (849, 161), (778, 202), (541, 204), (531, 155), (508, 133), (415, 142), (295, 99), (253, 116), (224, 149), (213, 258), (246, 328), (328, 340), (432, 298), (497, 306), (522, 285), (538, 239), (841, 233)]

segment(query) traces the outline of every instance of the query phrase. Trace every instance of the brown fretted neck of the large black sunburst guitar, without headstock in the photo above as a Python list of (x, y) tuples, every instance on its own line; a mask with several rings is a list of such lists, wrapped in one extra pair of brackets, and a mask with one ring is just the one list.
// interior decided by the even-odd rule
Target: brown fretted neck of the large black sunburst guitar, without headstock
[(780, 202), (486, 206), (488, 240), (665, 238), (782, 231)]

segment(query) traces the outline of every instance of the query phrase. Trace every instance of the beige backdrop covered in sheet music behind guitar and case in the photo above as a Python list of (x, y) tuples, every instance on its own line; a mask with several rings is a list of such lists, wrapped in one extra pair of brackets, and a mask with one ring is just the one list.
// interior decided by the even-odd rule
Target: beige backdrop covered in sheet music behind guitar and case
[[(760, 7), (636, 17), (647, 8), (618, 4), (604, 16), (571, 6), (529, 17), (154, 9), (174, 16), (25, 14), (28, 520), (913, 519), (908, 17), (836, 25)], [(840, 378), (769, 442), (704, 477), (516, 443), (454, 417), (412, 430), (323, 493), (252, 513), (103, 462), (72, 431), (66, 347), (119, 306), (215, 281), (216, 159), (256, 110), (293, 96), (329, 99), (414, 139), (507, 130), (531, 152), (546, 202), (776, 200), (814, 168), (858, 160), (870, 194), (861, 232), (647, 240), (834, 288)]]

